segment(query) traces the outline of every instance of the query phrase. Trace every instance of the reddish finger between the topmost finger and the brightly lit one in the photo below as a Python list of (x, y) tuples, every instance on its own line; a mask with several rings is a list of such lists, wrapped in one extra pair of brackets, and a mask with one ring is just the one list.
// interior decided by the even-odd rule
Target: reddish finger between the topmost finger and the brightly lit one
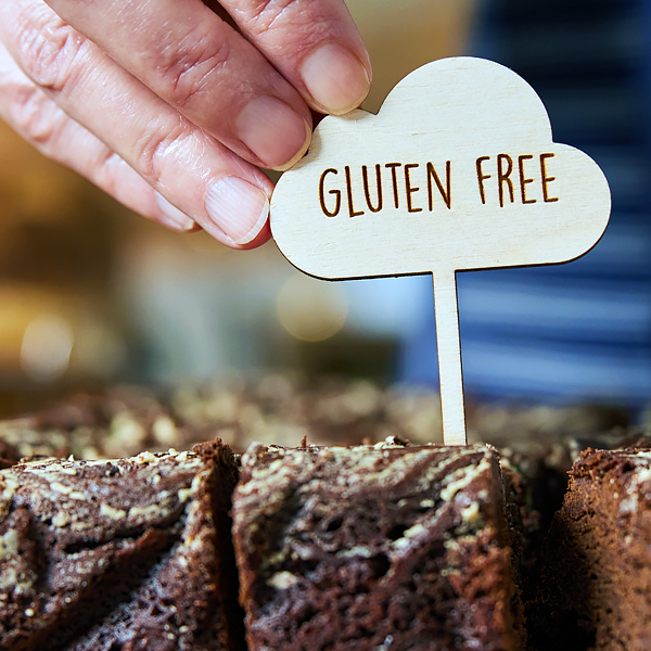
[(308, 107), (201, 0), (46, 0), (65, 21), (230, 150), (285, 169), (307, 150)]

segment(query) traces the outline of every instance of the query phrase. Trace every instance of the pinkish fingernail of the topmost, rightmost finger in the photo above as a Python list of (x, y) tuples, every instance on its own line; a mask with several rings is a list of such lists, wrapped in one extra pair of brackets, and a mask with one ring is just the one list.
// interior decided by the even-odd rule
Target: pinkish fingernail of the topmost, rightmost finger
[(371, 87), (361, 61), (339, 43), (321, 46), (309, 54), (303, 62), (301, 76), (315, 102), (335, 115), (359, 106)]

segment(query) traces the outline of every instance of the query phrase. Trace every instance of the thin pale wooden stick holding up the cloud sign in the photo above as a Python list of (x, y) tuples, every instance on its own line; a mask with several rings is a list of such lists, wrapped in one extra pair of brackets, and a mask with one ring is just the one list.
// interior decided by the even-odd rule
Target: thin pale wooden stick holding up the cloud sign
[(467, 445), (459, 307), (455, 271), (434, 271), (434, 314), (438, 350), (443, 443)]

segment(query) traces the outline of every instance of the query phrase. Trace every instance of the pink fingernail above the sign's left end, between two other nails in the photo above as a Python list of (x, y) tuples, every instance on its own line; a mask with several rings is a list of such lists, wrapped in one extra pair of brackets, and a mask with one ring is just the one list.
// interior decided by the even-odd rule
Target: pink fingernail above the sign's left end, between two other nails
[(291, 167), (309, 146), (311, 129), (291, 106), (269, 95), (250, 102), (235, 122), (240, 140), (271, 169)]

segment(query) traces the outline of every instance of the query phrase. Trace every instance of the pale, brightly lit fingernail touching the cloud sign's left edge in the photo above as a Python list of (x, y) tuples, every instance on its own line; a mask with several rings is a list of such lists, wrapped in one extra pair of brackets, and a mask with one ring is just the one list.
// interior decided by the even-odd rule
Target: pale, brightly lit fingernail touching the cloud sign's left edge
[[(206, 193), (206, 212), (235, 244), (247, 244), (267, 221), (269, 200), (247, 181), (225, 177), (210, 186)], [(208, 227), (204, 228), (209, 231)]]

